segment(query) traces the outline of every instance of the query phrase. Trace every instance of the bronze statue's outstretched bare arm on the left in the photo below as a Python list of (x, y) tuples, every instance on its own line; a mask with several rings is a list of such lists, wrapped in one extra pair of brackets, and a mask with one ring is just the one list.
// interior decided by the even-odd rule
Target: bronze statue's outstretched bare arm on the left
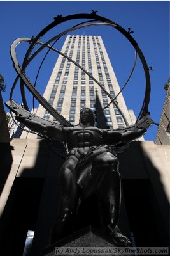
[(25, 118), (22, 115), (16, 115), (16, 120), (22, 124), (25, 124), (31, 131), (39, 133), (53, 140), (63, 140), (62, 127), (56, 127), (55, 125), (43, 125), (40, 122)]

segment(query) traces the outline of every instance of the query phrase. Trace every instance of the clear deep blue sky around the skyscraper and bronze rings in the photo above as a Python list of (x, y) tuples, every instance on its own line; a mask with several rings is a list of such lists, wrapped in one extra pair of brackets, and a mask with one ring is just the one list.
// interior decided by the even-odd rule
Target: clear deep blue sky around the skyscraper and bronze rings
[[(169, 77), (169, 1), (0, 1), (1, 24), (1, 59), (0, 72), (6, 83), (6, 92), (3, 93), (4, 102), (9, 99), (11, 86), (16, 77), (13, 63), (10, 58), (10, 45), (16, 38), (36, 36), (41, 29), (53, 22), (53, 17), (62, 14), (67, 16), (76, 13), (91, 13), (97, 10), (97, 14), (113, 20), (122, 28), (131, 28), (133, 38), (143, 52), (148, 67), (152, 65), (150, 72), (151, 99), (148, 110), (155, 122), (159, 122), (166, 92), (164, 83)], [(64, 23), (52, 29), (48, 35), (41, 38), (46, 42), (50, 37), (71, 26), (82, 22)], [(80, 31), (73, 31), (72, 35), (101, 35), (106, 45), (120, 88), (131, 73), (134, 63), (134, 49), (129, 42), (116, 29), (104, 26), (92, 26)], [(63, 37), (55, 45), (60, 49), (64, 42)], [(24, 58), (28, 44), (20, 44), (17, 47), (17, 56), (20, 64)], [(45, 52), (39, 54), (27, 69), (27, 74), (34, 83), (39, 63)], [(45, 63), (39, 73), (37, 88), (43, 93), (50, 77), (57, 55), (48, 54)], [(138, 116), (145, 92), (145, 76), (141, 63), (138, 60), (132, 75), (132, 79), (124, 90), (124, 99), (127, 108), (134, 109)], [(32, 108), (32, 96), (27, 93), (29, 108)], [(13, 95), (13, 99), (20, 104), (19, 84)], [(36, 106), (38, 103), (36, 102)], [(8, 111), (8, 109), (6, 109)], [(152, 125), (145, 135), (145, 140), (155, 140), (157, 127)]]

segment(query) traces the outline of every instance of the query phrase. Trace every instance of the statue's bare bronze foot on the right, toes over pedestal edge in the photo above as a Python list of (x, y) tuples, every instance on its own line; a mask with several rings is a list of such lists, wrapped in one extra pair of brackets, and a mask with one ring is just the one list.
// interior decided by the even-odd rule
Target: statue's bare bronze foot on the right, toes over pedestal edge
[(113, 240), (113, 243), (115, 243), (115, 245), (124, 247), (131, 245), (129, 239), (126, 236), (122, 235), (117, 226), (113, 227), (112, 225), (107, 225), (106, 230), (111, 236), (111, 239)]

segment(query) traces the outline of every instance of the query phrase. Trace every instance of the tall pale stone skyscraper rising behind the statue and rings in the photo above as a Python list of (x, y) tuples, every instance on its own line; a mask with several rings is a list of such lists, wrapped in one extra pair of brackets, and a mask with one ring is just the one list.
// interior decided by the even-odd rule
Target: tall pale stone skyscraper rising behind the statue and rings
[[(66, 37), (61, 51), (87, 70), (110, 93), (111, 97), (114, 98), (120, 92), (115, 72), (101, 36), (69, 35)], [(73, 125), (79, 122), (81, 108), (86, 106), (97, 114), (101, 108), (110, 102), (108, 95), (103, 92), (92, 77), (89, 77), (81, 68), (62, 55), (59, 56), (53, 68), (44, 97)], [(117, 104), (129, 125), (134, 124), (134, 113), (132, 110), (128, 111), (122, 93), (117, 97)], [(42, 106), (39, 106), (36, 115), (53, 120), (53, 117)], [(101, 119), (100, 116), (99, 119)], [(125, 125), (120, 111), (113, 104), (104, 110), (104, 119), (108, 129)]]

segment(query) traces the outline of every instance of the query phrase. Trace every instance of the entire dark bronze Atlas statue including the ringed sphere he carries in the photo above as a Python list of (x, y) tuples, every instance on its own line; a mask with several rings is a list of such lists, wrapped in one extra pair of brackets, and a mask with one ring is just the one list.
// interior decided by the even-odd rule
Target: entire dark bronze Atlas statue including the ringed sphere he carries
[[(80, 24), (59, 33), (58, 35), (53, 36), (45, 43), (39, 41), (42, 36), (44, 36), (55, 26), (61, 24), (62, 22), (75, 19), (90, 20), (88, 22), (87, 20), (81, 22)], [(122, 110), (117, 104), (117, 97), (122, 90), (124, 90), (132, 76), (134, 67), (136, 65), (136, 58), (134, 61), (134, 67), (132, 68), (132, 72), (127, 79), (127, 82), (124, 84), (124, 86), (122, 86), (120, 92), (113, 98), (111, 97), (110, 93), (108, 93), (106, 89), (99, 83), (99, 81), (92, 76), (91, 73), (85, 70), (85, 68), (81, 67), (79, 63), (76, 63), (69, 56), (53, 47), (61, 36), (64, 36), (76, 29), (86, 28), (92, 25), (104, 25), (117, 29), (132, 44), (135, 49), (135, 56), (137, 57), (137, 54), (139, 56), (139, 60), (141, 61), (144, 69), (146, 88), (145, 99), (143, 100), (141, 111), (139, 112), (139, 116), (134, 125), (128, 124), (124, 113), (122, 113)], [(145, 57), (143, 56), (137, 42), (134, 40), (134, 38), (132, 38), (131, 33), (130, 28), (128, 28), (128, 31), (126, 31), (112, 20), (97, 15), (97, 11), (92, 11), (90, 14), (81, 13), (68, 15), (66, 17), (58, 15), (57, 17), (54, 17), (54, 21), (51, 24), (46, 26), (46, 28), (40, 31), (37, 36), (34, 36), (34, 38), (18, 38), (11, 45), (11, 58), (17, 72), (17, 78), (15, 79), (15, 82), (11, 88), (10, 100), (6, 102), (6, 106), (10, 108), (10, 111), (17, 115), (16, 119), (18, 121), (22, 122), (29, 129), (31, 129), (29, 132), (37, 132), (38, 134), (41, 134), (42, 138), (50, 138), (55, 141), (64, 141), (68, 148), (66, 161), (63, 164), (59, 175), (59, 216), (57, 216), (57, 219), (52, 227), (50, 243), (54, 243), (62, 237), (67, 236), (68, 232), (71, 231), (68, 227), (71, 227), (70, 224), (74, 223), (80, 198), (83, 200), (95, 193), (100, 205), (103, 220), (103, 231), (112, 237), (117, 246), (128, 246), (130, 244), (129, 239), (121, 234), (117, 225), (120, 212), (121, 177), (118, 170), (119, 163), (116, 152), (117, 150), (122, 150), (123, 152), (131, 141), (143, 136), (146, 129), (153, 124), (148, 112), (148, 104), (150, 101), (150, 68), (148, 68)], [(18, 63), (17, 54), (15, 51), (17, 45), (21, 42), (29, 42), (29, 48), (25, 54), (22, 66)], [(50, 43), (53, 43), (52, 46), (50, 46)], [(40, 45), (39, 49), (35, 49), (35, 51), (33, 51), (34, 47), (38, 45)], [(68, 61), (71, 61), (71, 63), (74, 63), (76, 67), (85, 72), (85, 74), (87, 74), (94, 81), (94, 83), (96, 83), (101, 90), (106, 93), (111, 101), (102, 110), (104, 111), (104, 109), (108, 108), (110, 104), (114, 104), (124, 119), (124, 127), (110, 130), (95, 127), (94, 114), (90, 108), (81, 109), (80, 124), (73, 126), (73, 124), (66, 120), (64, 116), (60, 115), (60, 113), (58, 113), (49, 102), (47, 102), (47, 100), (35, 88), (36, 84), (32, 84), (25, 73), (29, 63), (31, 63), (38, 53), (46, 47), (49, 49), (49, 51), (52, 50), (57, 52)], [(45, 58), (43, 60), (45, 60)], [(12, 99), (13, 91), (18, 79), (20, 79), (20, 88), (24, 109)], [(32, 95), (38, 100), (39, 104), (41, 104), (58, 122), (45, 120), (45, 118), (41, 118), (29, 112), (24, 86), (27, 87), (29, 92), (31, 92)], [(96, 115), (99, 115), (99, 113)], [(24, 131), (28, 130), (24, 129)]]

